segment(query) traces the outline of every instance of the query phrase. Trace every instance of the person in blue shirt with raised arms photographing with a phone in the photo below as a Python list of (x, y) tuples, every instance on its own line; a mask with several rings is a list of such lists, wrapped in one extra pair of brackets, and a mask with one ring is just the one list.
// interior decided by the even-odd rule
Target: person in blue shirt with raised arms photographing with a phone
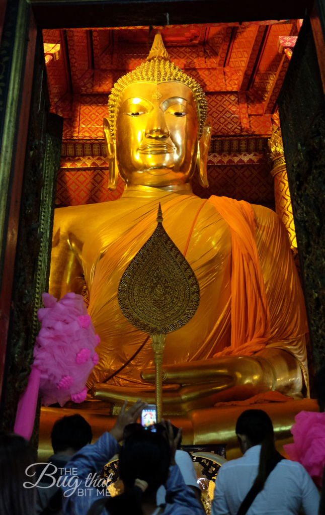
[[(137, 401), (128, 411), (126, 402), (113, 429), (94, 444), (78, 451), (66, 465), (63, 477), (65, 515), (203, 515), (194, 492), (185, 485), (175, 462), (175, 451), (181, 437), (174, 439), (173, 428), (165, 424), (167, 434), (152, 433), (143, 428), (132, 432), (123, 442), (125, 426), (136, 422), (146, 403)], [(96, 488), (91, 477), (99, 473), (119, 452), (119, 475), (125, 492), (107, 497), (106, 488)], [(157, 490), (165, 484), (166, 502), (157, 506)]]

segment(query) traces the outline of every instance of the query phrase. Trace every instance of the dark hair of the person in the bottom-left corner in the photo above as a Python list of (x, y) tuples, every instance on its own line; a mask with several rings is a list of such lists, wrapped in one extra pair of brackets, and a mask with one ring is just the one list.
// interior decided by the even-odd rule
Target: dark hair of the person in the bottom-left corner
[(35, 488), (32, 483), (33, 451), (25, 438), (14, 434), (0, 434), (0, 513), (1, 515), (35, 515)]

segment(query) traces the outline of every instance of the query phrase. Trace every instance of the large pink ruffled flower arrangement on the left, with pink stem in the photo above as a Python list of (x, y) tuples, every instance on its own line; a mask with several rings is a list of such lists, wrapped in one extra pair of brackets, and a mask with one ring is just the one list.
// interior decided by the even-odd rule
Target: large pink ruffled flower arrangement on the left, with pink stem
[(87, 313), (81, 295), (67, 293), (57, 301), (44, 293), (44, 308), (38, 311), (42, 328), (36, 338), (34, 362), (22, 394), (14, 432), (29, 439), (36, 413), (37, 398), (45, 406), (70, 399), (82, 402), (87, 397), (88, 376), (98, 363), (95, 347), (99, 336)]

